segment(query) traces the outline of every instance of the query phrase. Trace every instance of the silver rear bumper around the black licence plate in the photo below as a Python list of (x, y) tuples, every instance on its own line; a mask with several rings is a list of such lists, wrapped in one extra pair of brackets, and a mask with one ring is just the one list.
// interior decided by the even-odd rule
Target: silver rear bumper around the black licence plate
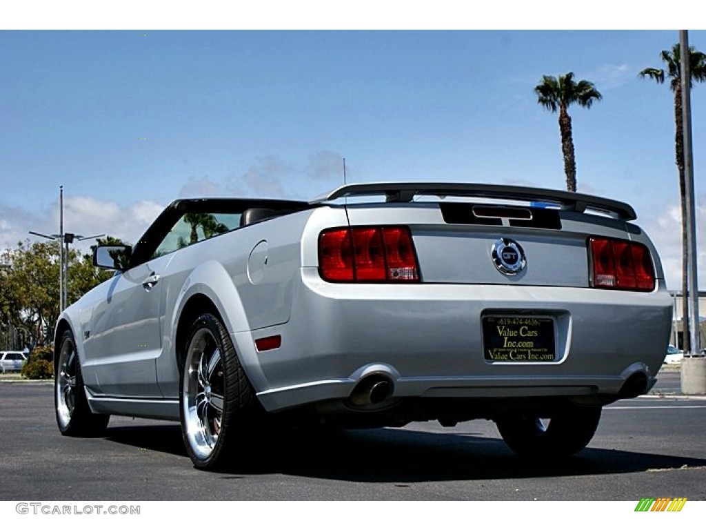
[[(302, 269), (292, 318), (236, 336), (273, 334), (282, 346), (256, 354), (258, 397), (269, 411), (347, 399), (369, 375), (390, 397), (607, 401), (635, 375), (654, 384), (671, 328), (665, 290), (628, 293), (524, 285), (342, 285)], [(491, 362), (481, 316), (530, 314), (555, 321), (556, 360)], [(240, 334), (237, 334), (240, 335)], [(632, 379), (631, 379), (632, 380)]]

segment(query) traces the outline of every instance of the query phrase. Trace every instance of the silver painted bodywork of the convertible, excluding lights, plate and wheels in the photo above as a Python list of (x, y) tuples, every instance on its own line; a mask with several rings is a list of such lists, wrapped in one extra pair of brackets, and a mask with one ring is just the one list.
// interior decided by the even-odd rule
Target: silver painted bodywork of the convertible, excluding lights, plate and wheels
[[(116, 273), (68, 307), (57, 329), (70, 327), (76, 336), (89, 403), (100, 413), (179, 419), (179, 326), (188, 324), (181, 315), (196, 296), (217, 309), (270, 412), (345, 404), (371, 374), (390, 380), (393, 401), (608, 402), (621, 397), (635, 374), (645, 375), (645, 391), (652, 387), (672, 310), (657, 252), (628, 222), (630, 210), (618, 209), (614, 217), (581, 208), (561, 211), (556, 230), (448, 223), (436, 202), (318, 206)], [(326, 228), (349, 224), (408, 225), (421, 283), (323, 281), (318, 237)], [(591, 288), (588, 235), (647, 245), (655, 290)], [(501, 237), (525, 249), (522, 273), (507, 276), (493, 266), (491, 249)], [(147, 289), (143, 283), (152, 274), (159, 281)], [(556, 360), (486, 360), (481, 328), (486, 315), (551, 319)], [(275, 335), (282, 337), (280, 348), (256, 351), (256, 339)]]

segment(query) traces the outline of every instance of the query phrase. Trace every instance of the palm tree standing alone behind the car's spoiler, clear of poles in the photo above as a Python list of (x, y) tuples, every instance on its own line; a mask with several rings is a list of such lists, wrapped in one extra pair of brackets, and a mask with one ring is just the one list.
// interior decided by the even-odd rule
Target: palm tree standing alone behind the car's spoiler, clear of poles
[(573, 72), (566, 76), (543, 76), (542, 83), (534, 87), (537, 102), (546, 110), (559, 112), (559, 131), (561, 132), (561, 152), (564, 156), (566, 189), (576, 191), (576, 158), (571, 134), (571, 117), (567, 110), (572, 103), (591, 108), (594, 101), (603, 99), (601, 93), (590, 81), (574, 81)]

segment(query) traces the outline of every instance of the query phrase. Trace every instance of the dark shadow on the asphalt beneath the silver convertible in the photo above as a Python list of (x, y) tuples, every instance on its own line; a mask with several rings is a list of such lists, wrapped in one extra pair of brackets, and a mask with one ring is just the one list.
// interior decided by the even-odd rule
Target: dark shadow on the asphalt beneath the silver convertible
[[(179, 425), (115, 427), (107, 440), (186, 459)], [(186, 460), (185, 465), (190, 465)], [(238, 447), (220, 478), (280, 473), (369, 483), (417, 483), (636, 473), (706, 466), (706, 459), (588, 447), (573, 457), (518, 457), (500, 439), (400, 429), (274, 430)]]

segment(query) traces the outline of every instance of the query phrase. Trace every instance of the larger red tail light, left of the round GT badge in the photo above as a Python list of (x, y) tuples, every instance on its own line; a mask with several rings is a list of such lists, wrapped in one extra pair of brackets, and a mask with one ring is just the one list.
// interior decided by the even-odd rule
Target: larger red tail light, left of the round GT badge
[(324, 230), (318, 240), (318, 258), (325, 281), (419, 281), (417, 253), (406, 226)]

